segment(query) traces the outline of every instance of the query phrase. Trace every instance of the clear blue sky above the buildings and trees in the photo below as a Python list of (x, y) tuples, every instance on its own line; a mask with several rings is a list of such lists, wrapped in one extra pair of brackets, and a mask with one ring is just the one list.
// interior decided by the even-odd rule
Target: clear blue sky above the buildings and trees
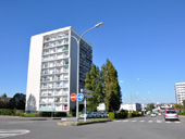
[[(73, 26), (94, 48), (94, 63), (109, 59), (119, 73), (123, 103), (176, 102), (185, 81), (184, 0), (0, 0), (0, 94), (26, 93), (30, 37)], [(131, 83), (137, 78), (140, 81)]]

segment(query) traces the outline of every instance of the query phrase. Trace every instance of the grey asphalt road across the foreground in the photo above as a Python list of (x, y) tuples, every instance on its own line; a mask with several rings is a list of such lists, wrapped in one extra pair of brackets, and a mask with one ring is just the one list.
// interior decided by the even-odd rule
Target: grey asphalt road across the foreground
[(84, 126), (58, 126), (57, 121), (0, 121), (0, 138), (185, 139), (185, 123), (164, 122), (162, 116), (136, 117)]

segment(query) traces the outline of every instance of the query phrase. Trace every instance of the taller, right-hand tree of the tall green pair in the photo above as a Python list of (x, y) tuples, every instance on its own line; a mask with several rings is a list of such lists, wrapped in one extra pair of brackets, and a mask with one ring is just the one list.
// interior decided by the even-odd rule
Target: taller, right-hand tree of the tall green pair
[(109, 60), (101, 66), (101, 76), (106, 109), (108, 112), (118, 111), (122, 103), (121, 88), (118, 80), (118, 72)]

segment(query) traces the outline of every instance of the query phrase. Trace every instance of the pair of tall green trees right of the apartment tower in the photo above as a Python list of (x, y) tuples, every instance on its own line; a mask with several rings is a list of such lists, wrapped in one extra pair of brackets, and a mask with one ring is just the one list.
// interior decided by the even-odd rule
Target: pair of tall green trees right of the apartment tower
[(99, 103), (106, 104), (108, 112), (118, 111), (122, 103), (121, 87), (118, 80), (118, 72), (110, 60), (99, 70), (92, 64), (89, 73), (86, 73), (85, 89), (92, 91), (92, 98), (88, 98), (89, 111), (97, 111)]

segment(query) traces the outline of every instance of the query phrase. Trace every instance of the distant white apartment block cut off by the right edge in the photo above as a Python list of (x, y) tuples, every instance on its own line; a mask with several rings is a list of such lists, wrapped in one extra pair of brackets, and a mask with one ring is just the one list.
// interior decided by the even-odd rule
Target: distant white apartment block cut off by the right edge
[(185, 100), (185, 83), (175, 84), (175, 96), (176, 102), (183, 104), (183, 100)]

